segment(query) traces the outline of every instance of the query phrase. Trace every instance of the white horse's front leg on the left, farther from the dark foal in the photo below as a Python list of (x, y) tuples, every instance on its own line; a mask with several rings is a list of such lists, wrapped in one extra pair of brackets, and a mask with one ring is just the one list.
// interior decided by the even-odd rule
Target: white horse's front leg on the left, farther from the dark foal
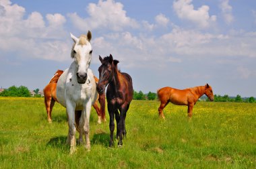
[(67, 116), (69, 119), (69, 132), (67, 135), (67, 143), (70, 145), (69, 153), (73, 154), (75, 152), (75, 105), (67, 103)]

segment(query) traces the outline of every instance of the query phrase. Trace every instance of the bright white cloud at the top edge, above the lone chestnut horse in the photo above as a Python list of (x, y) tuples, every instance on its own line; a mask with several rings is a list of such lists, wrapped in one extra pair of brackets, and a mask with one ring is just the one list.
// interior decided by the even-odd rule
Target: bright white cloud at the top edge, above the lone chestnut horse
[(202, 5), (197, 10), (194, 9), (192, 0), (177, 0), (173, 2), (173, 9), (181, 19), (191, 21), (200, 28), (209, 27), (216, 21), (216, 15), (209, 15), (210, 7)]

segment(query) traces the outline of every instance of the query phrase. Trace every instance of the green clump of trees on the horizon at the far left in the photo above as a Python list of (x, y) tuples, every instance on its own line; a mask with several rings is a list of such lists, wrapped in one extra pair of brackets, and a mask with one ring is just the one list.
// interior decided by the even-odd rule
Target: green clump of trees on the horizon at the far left
[(3, 97), (30, 97), (30, 91), (27, 87), (20, 86), (15, 87), (14, 85), (0, 93)]

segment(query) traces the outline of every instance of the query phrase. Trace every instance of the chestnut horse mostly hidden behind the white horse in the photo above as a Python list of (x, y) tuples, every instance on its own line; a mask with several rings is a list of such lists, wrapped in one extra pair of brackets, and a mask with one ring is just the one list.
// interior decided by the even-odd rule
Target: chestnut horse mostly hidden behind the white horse
[[(51, 78), (49, 84), (47, 84), (46, 87), (44, 87), (44, 105), (45, 105), (45, 109), (47, 112), (47, 120), (49, 121), (49, 123), (52, 122), (53, 106), (55, 105), (55, 101), (57, 101), (56, 86), (57, 86), (57, 82), (59, 80), (59, 76), (61, 76), (61, 74), (63, 74), (63, 70), (57, 70), (57, 72), (55, 72), (55, 75), (53, 76), (53, 78)], [(98, 78), (96, 78), (96, 76), (94, 76), (94, 80), (96, 83), (98, 83)], [(102, 99), (100, 99), (99, 97)], [(105, 102), (104, 99), (105, 99), (104, 95), (102, 95), (102, 96), (98, 95), (98, 101), (99, 101), (100, 107), (101, 107), (100, 109), (98, 107), (98, 103), (95, 102), (93, 105), (93, 107), (96, 110), (96, 113), (98, 115), (98, 124), (100, 124), (102, 120), (106, 121), (105, 111), (104, 111), (105, 104), (103, 103), (103, 102)], [(79, 115), (78, 115), (78, 117), (79, 117)]]

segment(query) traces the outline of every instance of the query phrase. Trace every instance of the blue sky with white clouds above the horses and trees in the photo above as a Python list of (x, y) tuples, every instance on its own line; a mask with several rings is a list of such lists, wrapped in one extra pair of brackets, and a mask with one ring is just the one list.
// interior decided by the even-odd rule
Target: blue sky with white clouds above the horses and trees
[(256, 1), (0, 0), (0, 88), (44, 89), (73, 41), (92, 32), (92, 63), (113, 55), (135, 91), (212, 86), (256, 97)]

